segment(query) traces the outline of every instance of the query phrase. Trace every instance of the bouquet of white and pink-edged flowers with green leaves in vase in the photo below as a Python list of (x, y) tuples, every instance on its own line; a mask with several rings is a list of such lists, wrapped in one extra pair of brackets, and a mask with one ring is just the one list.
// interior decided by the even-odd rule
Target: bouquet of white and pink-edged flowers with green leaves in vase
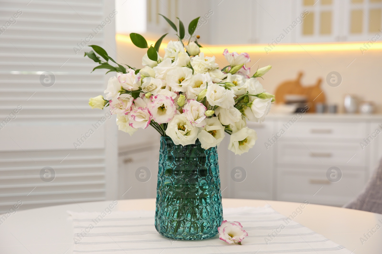
[[(117, 115), (118, 129), (132, 135), (138, 128), (151, 125), (162, 136), (168, 136), (175, 145), (195, 144), (199, 139), (201, 147), (209, 149), (219, 146), (225, 134), (230, 134), (228, 149), (235, 154), (248, 152), (257, 139), (256, 131), (246, 126), (246, 120), (264, 121), (270, 110), (274, 95), (267, 93), (257, 77), (262, 77), (271, 66), (257, 69), (249, 77), (250, 62), (247, 53), (223, 55), (229, 65), (220, 69), (215, 56), (205, 56), (194, 31), (199, 18), (188, 26), (190, 38), (187, 45), (182, 40), (185, 28), (179, 20), (179, 27), (163, 16), (177, 32), (178, 41), (170, 41), (163, 58), (159, 47), (163, 35), (154, 46), (148, 46), (140, 35), (130, 34), (131, 41), (139, 48), (148, 48), (142, 58), (142, 69), (136, 69), (115, 62), (106, 51), (91, 45), (94, 51), (85, 56), (98, 62), (94, 69), (108, 69), (117, 72), (109, 79), (105, 97), (89, 99), (89, 105), (103, 109), (110, 106), (110, 112)], [(195, 38), (191, 41), (191, 38)], [(101, 60), (103, 58), (105, 61)], [(108, 64), (112, 61), (118, 65)]]

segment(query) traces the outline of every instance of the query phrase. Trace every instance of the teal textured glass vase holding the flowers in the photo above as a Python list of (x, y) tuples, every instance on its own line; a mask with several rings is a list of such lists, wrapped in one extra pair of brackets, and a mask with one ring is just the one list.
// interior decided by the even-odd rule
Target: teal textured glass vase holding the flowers
[(199, 140), (175, 145), (160, 137), (155, 228), (168, 238), (199, 240), (215, 236), (223, 220), (216, 147)]

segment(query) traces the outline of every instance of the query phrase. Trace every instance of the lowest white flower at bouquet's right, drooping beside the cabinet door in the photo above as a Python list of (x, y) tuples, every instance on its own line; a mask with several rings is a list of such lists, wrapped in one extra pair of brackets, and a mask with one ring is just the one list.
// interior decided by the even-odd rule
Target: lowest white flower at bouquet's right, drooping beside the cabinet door
[(241, 155), (242, 153), (248, 152), (248, 150), (254, 146), (256, 140), (256, 131), (254, 129), (244, 127), (231, 134), (228, 149), (235, 154)]

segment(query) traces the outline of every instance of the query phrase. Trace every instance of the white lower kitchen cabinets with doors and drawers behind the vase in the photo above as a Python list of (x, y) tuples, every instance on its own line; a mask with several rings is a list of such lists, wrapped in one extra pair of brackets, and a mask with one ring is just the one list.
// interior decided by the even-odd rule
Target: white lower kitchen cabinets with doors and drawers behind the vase
[[(270, 113), (263, 123), (249, 122), (258, 139), (248, 153), (229, 151), (228, 134), (218, 147), (222, 196), (342, 206), (363, 190), (379, 163), (379, 124), (380, 115), (308, 113), (295, 118)], [(119, 198), (154, 198), (159, 134), (154, 129), (136, 134), (120, 139), (134, 149), (120, 148)], [(136, 178), (140, 167), (151, 172), (147, 182)]]

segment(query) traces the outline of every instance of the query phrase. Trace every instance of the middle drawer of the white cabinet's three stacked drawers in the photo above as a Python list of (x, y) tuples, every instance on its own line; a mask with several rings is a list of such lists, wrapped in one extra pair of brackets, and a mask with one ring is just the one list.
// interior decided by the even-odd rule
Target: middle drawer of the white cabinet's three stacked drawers
[[(353, 156), (354, 155), (354, 156)], [(280, 142), (278, 163), (364, 166), (365, 153), (355, 142)]]

